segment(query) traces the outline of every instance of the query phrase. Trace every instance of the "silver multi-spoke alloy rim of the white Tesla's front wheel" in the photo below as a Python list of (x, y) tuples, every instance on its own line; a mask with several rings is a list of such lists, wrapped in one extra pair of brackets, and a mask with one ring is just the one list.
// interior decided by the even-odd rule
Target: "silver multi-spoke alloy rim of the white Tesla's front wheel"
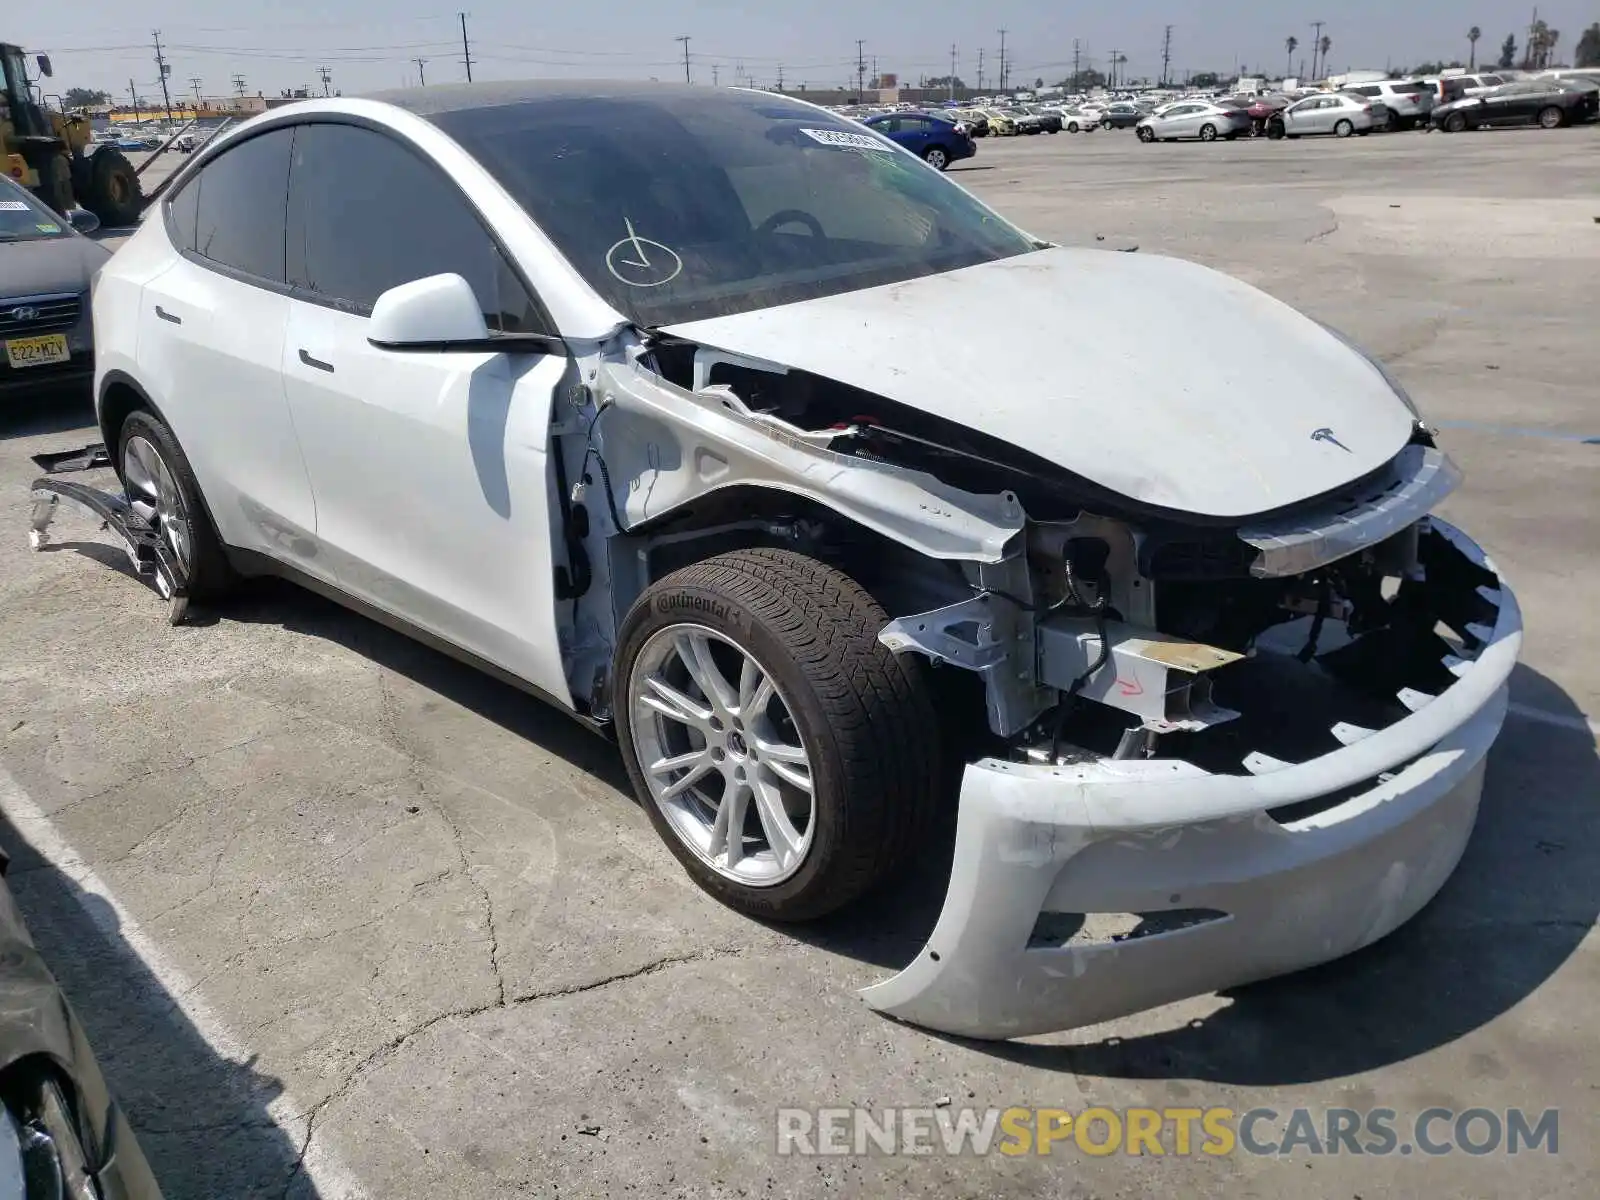
[(667, 626), (634, 659), (627, 704), (650, 797), (683, 845), (750, 888), (800, 870), (816, 832), (811, 758), (750, 651), (704, 626)]

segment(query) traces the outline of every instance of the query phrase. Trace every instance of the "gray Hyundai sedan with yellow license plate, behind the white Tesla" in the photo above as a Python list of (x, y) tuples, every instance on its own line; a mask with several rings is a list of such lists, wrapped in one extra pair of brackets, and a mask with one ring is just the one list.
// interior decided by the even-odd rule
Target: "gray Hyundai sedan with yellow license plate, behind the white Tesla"
[(64, 219), (0, 176), (0, 397), (83, 387), (94, 378), (90, 277), (110, 253), (78, 230), (86, 210)]

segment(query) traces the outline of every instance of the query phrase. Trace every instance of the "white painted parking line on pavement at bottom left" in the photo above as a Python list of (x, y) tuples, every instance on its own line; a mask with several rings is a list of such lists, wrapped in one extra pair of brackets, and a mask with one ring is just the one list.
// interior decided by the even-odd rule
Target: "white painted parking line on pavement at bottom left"
[[(166, 990), (166, 998), (189, 1018), (189, 1024), (195, 1027), (211, 1051), (227, 1062), (246, 1066), (251, 1059), (250, 1051), (222, 1024), (184, 970), (168, 958), (133, 914), (122, 907), (104, 880), (56, 832), (50, 818), (5, 766), (0, 766), (0, 810), (35, 851), (77, 885), (74, 894), (90, 922), (106, 936), (109, 944), (122, 946), (160, 982)], [(99, 904), (86, 904), (90, 896), (94, 896)], [(302, 1115), (306, 1110), (306, 1106), (283, 1091), (267, 1106), (267, 1117), (283, 1131), (290, 1146), (299, 1147), (306, 1141), (306, 1117)], [(138, 1130), (138, 1114), (130, 1114), (130, 1118)], [(322, 1142), (312, 1142), (301, 1170), (315, 1186), (322, 1200), (362, 1200), (366, 1195), (355, 1176)]]

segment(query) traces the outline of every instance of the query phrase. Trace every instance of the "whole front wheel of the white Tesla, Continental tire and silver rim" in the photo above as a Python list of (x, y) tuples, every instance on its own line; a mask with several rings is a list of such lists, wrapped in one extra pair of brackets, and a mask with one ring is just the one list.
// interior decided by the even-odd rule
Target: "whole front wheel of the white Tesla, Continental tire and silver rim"
[(912, 851), (936, 797), (922, 664), (878, 642), (883, 608), (789, 550), (686, 566), (619, 634), (616, 731), (651, 824), (706, 891), (811, 920)]

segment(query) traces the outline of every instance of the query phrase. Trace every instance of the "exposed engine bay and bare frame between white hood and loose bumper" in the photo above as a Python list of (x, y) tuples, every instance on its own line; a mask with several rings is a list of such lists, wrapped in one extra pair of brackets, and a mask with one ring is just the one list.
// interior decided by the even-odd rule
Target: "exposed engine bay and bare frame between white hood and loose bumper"
[[(850, 464), (872, 483), (936, 480), (941, 499), (970, 498), (1014, 533), (971, 558), (907, 546), (822, 493), (797, 494), (766, 464), (741, 478), (718, 456), (707, 472), (714, 451), (669, 448), (669, 430), (635, 411), (602, 419), (602, 395), (581, 416), (571, 494), (600, 486), (616, 506), (672, 501), (667, 462), (701, 467), (675, 472), (698, 477), (678, 480), (682, 502), (610, 514), (626, 552), (589, 555), (610, 558), (600, 570), (614, 574), (613, 610), (707, 544), (803, 549), (878, 597), (894, 616), (882, 634), (891, 650), (981, 680), (990, 752), (1035, 763), (1178, 757), (1235, 774), (1304, 762), (1448, 686), (1448, 664), (1472, 651), (1488, 618), (1486, 605), (1443, 598), (1470, 597), (1474, 581), (1438, 579), (1453, 558), (1437, 552), (1426, 514), (1459, 475), (1421, 424), (1390, 464), (1336, 494), (1221, 522), (1139, 506), (1026, 450), (805, 371), (666, 336), (629, 357), (634, 386), (696, 397), (717, 418), (822, 459), (835, 486)], [(611, 403), (626, 408), (626, 394)], [(630, 437), (640, 429), (643, 446)], [(814, 462), (797, 469), (818, 474)], [(587, 512), (581, 520), (589, 528)], [(595, 626), (602, 634), (603, 616)], [(586, 686), (574, 691), (603, 717), (595, 650), (578, 654)]]

